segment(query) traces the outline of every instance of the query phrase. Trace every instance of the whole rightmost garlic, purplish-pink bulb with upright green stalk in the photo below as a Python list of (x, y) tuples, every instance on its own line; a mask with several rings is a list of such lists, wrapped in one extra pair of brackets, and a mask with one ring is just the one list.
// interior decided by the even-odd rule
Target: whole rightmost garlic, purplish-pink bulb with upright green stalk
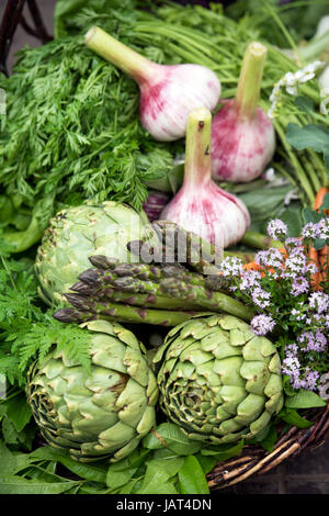
[(235, 99), (224, 100), (214, 116), (212, 135), (213, 177), (216, 180), (248, 182), (258, 178), (272, 159), (275, 132), (258, 105), (266, 47), (248, 46)]

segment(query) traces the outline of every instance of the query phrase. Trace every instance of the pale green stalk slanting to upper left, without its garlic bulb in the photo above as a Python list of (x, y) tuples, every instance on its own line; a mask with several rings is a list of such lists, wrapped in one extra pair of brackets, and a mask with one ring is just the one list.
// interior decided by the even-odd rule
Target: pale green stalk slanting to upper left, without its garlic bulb
[(98, 26), (92, 26), (84, 36), (86, 45), (98, 55), (117, 66), (138, 82), (147, 82), (155, 75), (155, 63), (132, 51)]

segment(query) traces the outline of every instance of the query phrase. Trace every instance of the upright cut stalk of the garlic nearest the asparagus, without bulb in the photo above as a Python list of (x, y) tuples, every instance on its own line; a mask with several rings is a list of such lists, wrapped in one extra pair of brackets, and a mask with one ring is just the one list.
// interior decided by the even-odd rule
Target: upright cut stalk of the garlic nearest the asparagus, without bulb
[(205, 108), (191, 111), (186, 126), (184, 186), (193, 189), (211, 179), (212, 113)]

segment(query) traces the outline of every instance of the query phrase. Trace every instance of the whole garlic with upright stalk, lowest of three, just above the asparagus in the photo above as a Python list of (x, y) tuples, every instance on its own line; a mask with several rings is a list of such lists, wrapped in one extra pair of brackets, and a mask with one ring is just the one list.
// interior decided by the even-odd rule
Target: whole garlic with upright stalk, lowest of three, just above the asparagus
[(175, 222), (217, 248), (237, 243), (250, 224), (247, 207), (212, 180), (212, 114), (198, 108), (186, 127), (184, 181), (160, 218)]

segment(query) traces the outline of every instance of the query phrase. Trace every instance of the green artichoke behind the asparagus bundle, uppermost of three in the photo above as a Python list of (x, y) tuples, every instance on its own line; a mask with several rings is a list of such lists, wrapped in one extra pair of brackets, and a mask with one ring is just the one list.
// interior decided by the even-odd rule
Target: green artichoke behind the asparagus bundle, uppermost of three
[(63, 294), (91, 263), (91, 255), (107, 255), (123, 262), (137, 261), (126, 245), (152, 235), (144, 212), (114, 201), (87, 202), (60, 211), (50, 221), (37, 249), (35, 273), (39, 296), (47, 303), (66, 303)]

